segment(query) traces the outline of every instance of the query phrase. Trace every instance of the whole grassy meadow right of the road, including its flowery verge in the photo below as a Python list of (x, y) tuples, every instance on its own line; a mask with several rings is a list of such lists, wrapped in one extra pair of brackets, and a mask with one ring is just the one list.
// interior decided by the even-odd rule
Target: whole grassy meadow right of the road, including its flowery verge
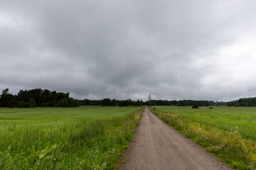
[(235, 169), (256, 169), (256, 108), (152, 106), (165, 123)]

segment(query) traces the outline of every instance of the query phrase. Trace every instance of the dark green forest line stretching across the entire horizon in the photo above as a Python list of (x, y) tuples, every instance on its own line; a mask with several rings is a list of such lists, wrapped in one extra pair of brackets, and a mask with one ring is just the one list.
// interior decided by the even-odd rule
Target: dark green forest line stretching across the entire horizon
[[(78, 101), (68, 93), (50, 91), (48, 89), (21, 90), (18, 94), (9, 93), (4, 89), (0, 96), (0, 107), (33, 108), (33, 107), (79, 107), (79, 106), (145, 106), (149, 101), (116, 100), (103, 98), (102, 100), (84, 99)], [(240, 98), (236, 101), (196, 101), (196, 100), (152, 100), (151, 106), (256, 106), (256, 97)]]

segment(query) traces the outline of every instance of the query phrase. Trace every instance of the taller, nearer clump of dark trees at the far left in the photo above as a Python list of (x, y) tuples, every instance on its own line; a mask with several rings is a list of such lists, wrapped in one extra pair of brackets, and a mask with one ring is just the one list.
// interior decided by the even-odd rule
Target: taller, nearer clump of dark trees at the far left
[(33, 108), (33, 107), (79, 107), (78, 100), (69, 97), (69, 93), (50, 91), (48, 89), (21, 90), (18, 94), (4, 89), (0, 96), (0, 107)]

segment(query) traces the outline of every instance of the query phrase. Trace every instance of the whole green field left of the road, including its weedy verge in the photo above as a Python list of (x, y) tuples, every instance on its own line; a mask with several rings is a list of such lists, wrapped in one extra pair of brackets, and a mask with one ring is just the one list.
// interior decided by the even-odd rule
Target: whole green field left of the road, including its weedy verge
[(0, 108), (0, 169), (114, 169), (139, 109)]

